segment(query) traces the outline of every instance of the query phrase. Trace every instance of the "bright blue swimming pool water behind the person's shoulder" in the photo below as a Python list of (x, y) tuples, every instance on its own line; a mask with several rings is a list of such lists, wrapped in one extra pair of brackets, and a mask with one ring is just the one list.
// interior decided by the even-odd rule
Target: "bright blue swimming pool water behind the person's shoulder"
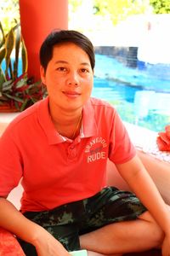
[(170, 124), (170, 65), (163, 68), (161, 75), (160, 66), (143, 71), (96, 55), (93, 96), (111, 102), (124, 121), (163, 131)]

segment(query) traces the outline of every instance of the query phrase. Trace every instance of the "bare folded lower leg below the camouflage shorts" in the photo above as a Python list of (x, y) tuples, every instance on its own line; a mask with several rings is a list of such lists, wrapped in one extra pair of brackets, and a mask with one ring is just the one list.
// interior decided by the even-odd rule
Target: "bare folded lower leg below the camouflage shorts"
[(88, 251), (114, 255), (114, 253), (142, 252), (160, 247), (163, 237), (161, 228), (150, 213), (144, 212), (137, 220), (109, 224), (82, 235), (80, 243), (81, 247)]

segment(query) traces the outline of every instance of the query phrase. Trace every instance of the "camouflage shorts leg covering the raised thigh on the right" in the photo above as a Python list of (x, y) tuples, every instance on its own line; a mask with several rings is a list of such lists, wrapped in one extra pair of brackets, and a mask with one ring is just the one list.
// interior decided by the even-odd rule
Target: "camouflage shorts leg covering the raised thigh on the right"
[(87, 222), (82, 234), (99, 229), (107, 224), (134, 220), (146, 211), (139, 199), (129, 191), (114, 187), (102, 189), (86, 202)]

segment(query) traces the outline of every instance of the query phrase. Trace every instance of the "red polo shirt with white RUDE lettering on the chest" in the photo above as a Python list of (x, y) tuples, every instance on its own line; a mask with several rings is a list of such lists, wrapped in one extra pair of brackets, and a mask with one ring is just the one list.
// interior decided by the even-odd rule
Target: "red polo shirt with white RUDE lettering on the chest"
[(107, 159), (121, 164), (135, 149), (116, 110), (90, 98), (72, 141), (54, 129), (48, 97), (20, 113), (0, 139), (0, 195), (22, 178), (21, 211), (43, 211), (88, 198), (106, 185)]

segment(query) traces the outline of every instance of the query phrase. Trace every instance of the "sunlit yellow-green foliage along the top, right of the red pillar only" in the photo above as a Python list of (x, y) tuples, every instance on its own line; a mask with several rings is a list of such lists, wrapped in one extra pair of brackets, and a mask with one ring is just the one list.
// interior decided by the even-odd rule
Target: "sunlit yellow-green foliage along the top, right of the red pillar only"
[[(77, 12), (82, 5), (82, 0), (69, 0), (71, 11)], [(155, 14), (169, 14), (169, 0), (94, 0), (94, 15), (108, 16), (113, 25), (125, 20), (129, 15), (147, 14), (149, 11)]]

